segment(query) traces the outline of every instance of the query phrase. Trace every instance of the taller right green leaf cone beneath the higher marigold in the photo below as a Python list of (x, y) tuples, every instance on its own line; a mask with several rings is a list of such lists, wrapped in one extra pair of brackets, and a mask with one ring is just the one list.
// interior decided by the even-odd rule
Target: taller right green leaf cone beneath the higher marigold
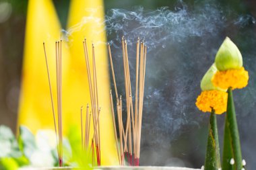
[[(231, 88), (228, 88), (228, 105), (226, 110), (223, 152), (223, 170), (241, 170), (243, 168), (241, 145)], [(230, 165), (230, 159), (234, 159), (234, 165)]]

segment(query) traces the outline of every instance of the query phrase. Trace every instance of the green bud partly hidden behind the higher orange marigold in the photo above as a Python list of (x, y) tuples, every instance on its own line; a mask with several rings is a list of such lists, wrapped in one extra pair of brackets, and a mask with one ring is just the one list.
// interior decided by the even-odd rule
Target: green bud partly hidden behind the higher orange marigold
[(220, 90), (220, 91), (226, 91), (226, 89), (220, 89), (219, 87), (215, 87), (212, 83), (212, 78), (214, 77), (215, 73), (218, 71), (216, 68), (215, 63), (210, 67), (210, 69), (205, 73), (203, 76), (203, 79), (201, 80), (201, 90)]

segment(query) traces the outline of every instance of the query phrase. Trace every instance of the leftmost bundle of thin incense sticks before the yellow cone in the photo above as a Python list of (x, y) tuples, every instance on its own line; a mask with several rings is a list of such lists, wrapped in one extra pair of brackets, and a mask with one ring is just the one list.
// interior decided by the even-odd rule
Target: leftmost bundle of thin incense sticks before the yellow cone
[(57, 153), (58, 153), (58, 157), (59, 157), (59, 166), (60, 167), (63, 166), (61, 44), (62, 44), (62, 40), (55, 42), (56, 75), (57, 75), (56, 76), (57, 77), (57, 81), (56, 81), (57, 82), (57, 122), (58, 122), (58, 128), (57, 128), (56, 118), (55, 118), (55, 108), (54, 108), (54, 102), (53, 102), (53, 92), (52, 92), (52, 87), (51, 87), (51, 78), (50, 78), (50, 73), (49, 73), (49, 66), (48, 66), (45, 44), (43, 42), (44, 57), (45, 57), (45, 61), (46, 61), (46, 69), (47, 69), (47, 75), (48, 75), (48, 81), (49, 81), (49, 87), (50, 87), (50, 93), (51, 93), (51, 104), (52, 104), (52, 110), (53, 110), (53, 120), (54, 120), (54, 125), (55, 125), (55, 136), (56, 136), (56, 140), (57, 140)]

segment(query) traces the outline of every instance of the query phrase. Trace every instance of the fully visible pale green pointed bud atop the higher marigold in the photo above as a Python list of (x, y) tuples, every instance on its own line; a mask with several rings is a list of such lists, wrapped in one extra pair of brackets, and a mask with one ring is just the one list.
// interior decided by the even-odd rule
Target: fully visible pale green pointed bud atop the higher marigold
[(215, 57), (216, 67), (220, 71), (240, 69), (243, 67), (243, 58), (236, 44), (228, 37), (224, 40)]

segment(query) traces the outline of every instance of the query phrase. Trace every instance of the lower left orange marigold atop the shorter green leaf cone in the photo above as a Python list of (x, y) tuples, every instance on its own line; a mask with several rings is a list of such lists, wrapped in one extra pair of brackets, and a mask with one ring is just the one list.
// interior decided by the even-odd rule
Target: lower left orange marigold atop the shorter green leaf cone
[(225, 91), (208, 90), (201, 92), (195, 105), (202, 112), (212, 112), (214, 109), (216, 114), (222, 114), (226, 112), (227, 101), (228, 93)]

